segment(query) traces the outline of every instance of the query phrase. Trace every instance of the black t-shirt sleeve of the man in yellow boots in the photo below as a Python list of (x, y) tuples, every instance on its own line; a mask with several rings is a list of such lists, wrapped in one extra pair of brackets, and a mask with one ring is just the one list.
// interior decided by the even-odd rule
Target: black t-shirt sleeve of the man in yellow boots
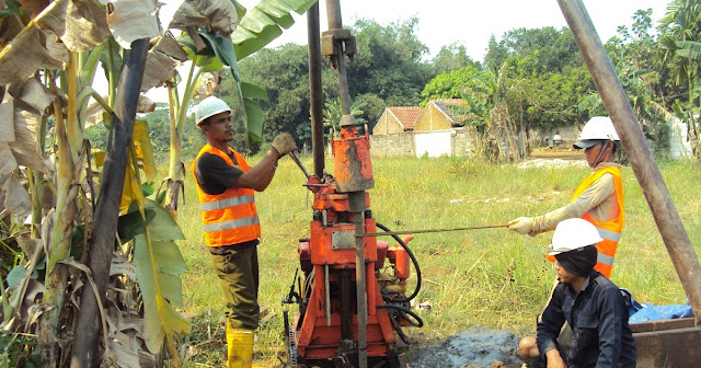
[[(227, 154), (234, 164), (238, 164), (233, 153), (227, 150)], [(222, 194), (231, 187), (243, 171), (239, 166), (231, 166), (220, 157), (212, 153), (203, 153), (197, 159), (195, 175), (203, 192), (209, 195)]]

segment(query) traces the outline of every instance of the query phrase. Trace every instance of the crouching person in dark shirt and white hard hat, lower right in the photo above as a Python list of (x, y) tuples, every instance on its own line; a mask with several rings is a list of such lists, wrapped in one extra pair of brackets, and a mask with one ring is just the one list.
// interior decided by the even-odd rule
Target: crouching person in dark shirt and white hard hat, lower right
[[(556, 260), (560, 284), (538, 322), (537, 336), (518, 344), (520, 358), (531, 363), (529, 367), (635, 367), (623, 297), (594, 271), (599, 241), (594, 225), (579, 218), (555, 228), (550, 255)], [(571, 330), (563, 329), (565, 322)]]

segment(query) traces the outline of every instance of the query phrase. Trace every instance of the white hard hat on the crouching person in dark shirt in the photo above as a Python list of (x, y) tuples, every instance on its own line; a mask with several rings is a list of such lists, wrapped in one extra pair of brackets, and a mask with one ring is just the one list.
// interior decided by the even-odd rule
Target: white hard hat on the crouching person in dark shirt
[(552, 234), (552, 244), (549, 246), (550, 253), (548, 255), (594, 245), (602, 240), (591, 222), (581, 218), (566, 219), (558, 223), (555, 232)]

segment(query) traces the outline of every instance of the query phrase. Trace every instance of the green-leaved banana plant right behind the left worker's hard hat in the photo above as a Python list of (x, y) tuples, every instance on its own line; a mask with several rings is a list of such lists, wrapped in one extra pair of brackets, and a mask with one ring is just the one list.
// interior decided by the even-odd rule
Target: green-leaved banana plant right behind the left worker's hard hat
[[(246, 142), (249, 147), (263, 141), (263, 110), (258, 100), (267, 100), (260, 87), (241, 80), (237, 67), (238, 60), (257, 51), (277, 38), (283, 28), (290, 27), (295, 20), (290, 12), (303, 14), (315, 0), (262, 0), (250, 11), (235, 0), (210, 0), (197, 3), (184, 2), (175, 12), (169, 28), (183, 31), (177, 37), (181, 46), (192, 61), (181, 96), (174, 88), (176, 80), (168, 83), (171, 117), (171, 148), (168, 176), (161, 185), (165, 186), (163, 203), (176, 216), (177, 198), (184, 193), (183, 176), (185, 165), (182, 162), (181, 137), (186, 120), (187, 107), (196, 96), (202, 84), (210, 85), (199, 92), (205, 97), (211, 95), (218, 77), (211, 85), (203, 83), (203, 76), (218, 74), (225, 67), (231, 69), (239, 92), (239, 105), (245, 116)], [(160, 193), (160, 189), (159, 189)]]

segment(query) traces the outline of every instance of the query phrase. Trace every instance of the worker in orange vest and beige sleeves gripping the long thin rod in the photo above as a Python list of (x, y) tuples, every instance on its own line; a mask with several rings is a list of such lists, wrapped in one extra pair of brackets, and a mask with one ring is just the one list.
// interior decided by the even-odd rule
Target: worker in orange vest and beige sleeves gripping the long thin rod
[(584, 149), (587, 163), (594, 172), (579, 184), (570, 204), (542, 216), (519, 217), (508, 222), (508, 229), (535, 237), (554, 229), (562, 220), (583, 218), (591, 222), (604, 239), (596, 245), (598, 256), (595, 269), (611, 277), (624, 220), (621, 166), (613, 162), (619, 140), (608, 116), (589, 119), (574, 148)]

